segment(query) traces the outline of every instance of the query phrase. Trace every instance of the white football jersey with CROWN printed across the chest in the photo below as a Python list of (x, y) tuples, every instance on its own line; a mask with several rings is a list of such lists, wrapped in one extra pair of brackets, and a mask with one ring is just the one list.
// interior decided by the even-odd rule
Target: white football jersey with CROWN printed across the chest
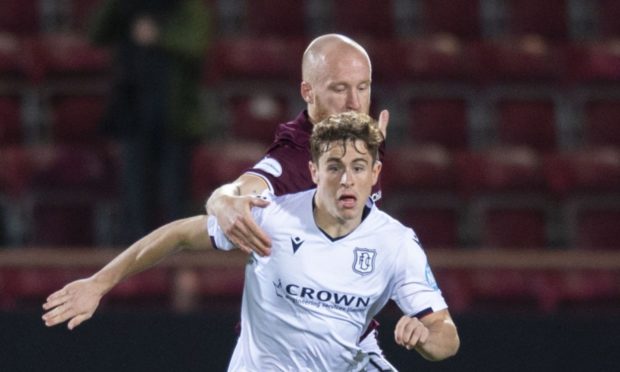
[[(332, 239), (314, 222), (315, 190), (270, 197), (253, 210), (272, 240), (245, 270), (241, 335), (229, 371), (359, 371), (359, 338), (391, 298), (414, 316), (447, 307), (413, 230), (371, 206)], [(209, 218), (218, 249), (233, 245)]]

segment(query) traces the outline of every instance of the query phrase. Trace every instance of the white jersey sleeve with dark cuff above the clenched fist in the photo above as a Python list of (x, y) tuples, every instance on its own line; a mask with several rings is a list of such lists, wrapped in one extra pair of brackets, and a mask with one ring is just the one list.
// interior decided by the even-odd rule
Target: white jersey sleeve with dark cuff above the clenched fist
[(413, 230), (399, 249), (400, 259), (392, 299), (403, 313), (421, 316), (448, 307)]

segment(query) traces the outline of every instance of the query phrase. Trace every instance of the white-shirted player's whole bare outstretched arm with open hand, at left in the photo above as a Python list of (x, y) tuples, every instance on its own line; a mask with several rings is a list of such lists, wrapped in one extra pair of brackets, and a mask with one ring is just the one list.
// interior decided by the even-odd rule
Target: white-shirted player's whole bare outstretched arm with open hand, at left
[(171, 222), (141, 238), (91, 277), (76, 280), (52, 293), (43, 304), (48, 327), (69, 320), (73, 329), (92, 317), (101, 298), (123, 279), (155, 265), (179, 249), (212, 248), (207, 216)]

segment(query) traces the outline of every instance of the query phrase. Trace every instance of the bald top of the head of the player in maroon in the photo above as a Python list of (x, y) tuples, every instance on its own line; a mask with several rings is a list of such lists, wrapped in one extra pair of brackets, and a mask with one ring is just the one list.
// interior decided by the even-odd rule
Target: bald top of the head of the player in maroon
[(340, 34), (326, 34), (312, 40), (301, 61), (301, 78), (314, 83), (321, 78), (322, 71), (334, 59), (344, 55), (357, 54), (370, 68), (370, 58), (366, 50), (355, 40)]

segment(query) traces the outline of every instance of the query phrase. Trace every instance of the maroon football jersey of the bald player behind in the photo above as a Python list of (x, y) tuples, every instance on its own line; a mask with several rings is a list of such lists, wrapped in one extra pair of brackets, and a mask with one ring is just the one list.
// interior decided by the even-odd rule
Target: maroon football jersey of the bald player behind
[[(290, 194), (309, 190), (316, 185), (312, 182), (308, 162), (310, 156), (310, 134), (312, 123), (306, 111), (301, 112), (293, 121), (280, 124), (276, 130), (274, 142), (265, 157), (246, 172), (262, 177), (276, 195)], [(379, 158), (383, 159), (383, 143), (379, 149)], [(373, 187), (373, 200), (381, 198), (380, 182)]]

